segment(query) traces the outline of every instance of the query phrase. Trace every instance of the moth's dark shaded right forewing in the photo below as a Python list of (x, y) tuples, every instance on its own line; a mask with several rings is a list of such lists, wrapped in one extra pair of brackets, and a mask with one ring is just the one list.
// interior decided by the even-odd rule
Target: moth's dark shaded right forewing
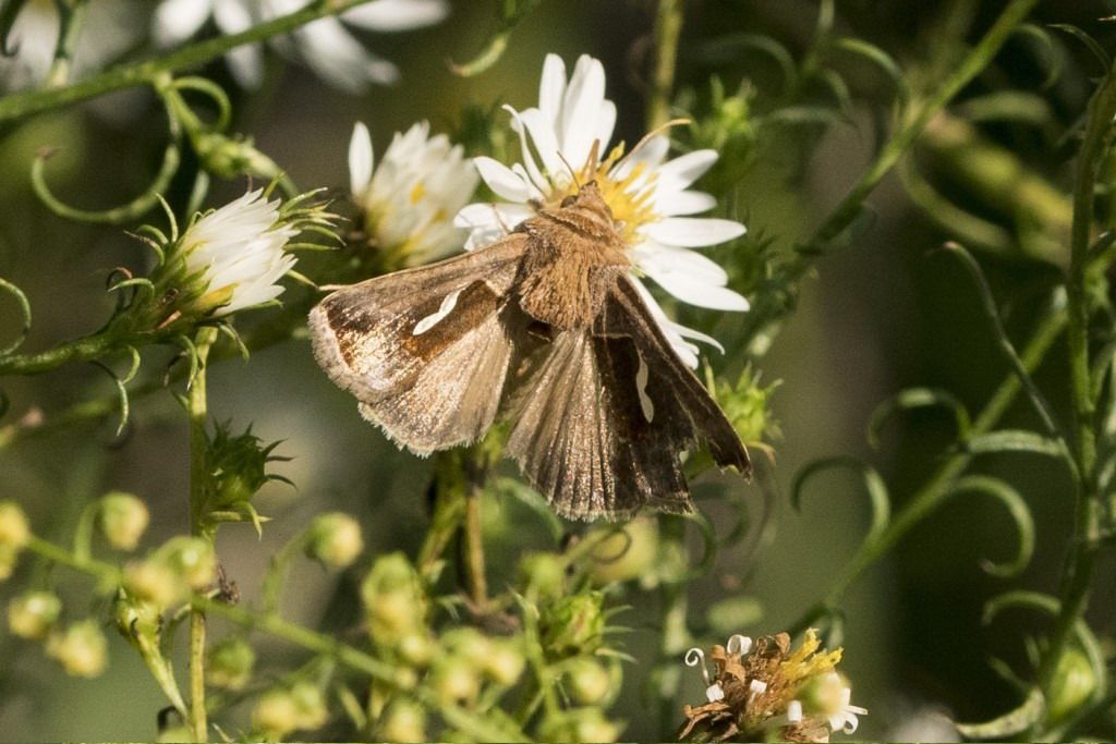
[[(617, 350), (613, 357), (617, 365), (631, 364), (623, 361), (619, 351), (628, 345), (635, 350), (638, 364), (645, 365), (646, 384), (641, 375), (638, 386), (641, 403), (651, 406), (652, 423), (672, 452), (704, 443), (718, 465), (751, 475), (751, 462), (740, 436), (705, 386), (671, 348), (627, 274), (618, 277), (606, 296), (594, 332), (616, 339), (609, 348)], [(620, 344), (620, 339), (627, 339), (628, 344)], [(631, 351), (627, 354), (631, 356)], [(617, 374), (626, 373), (618, 366)]]

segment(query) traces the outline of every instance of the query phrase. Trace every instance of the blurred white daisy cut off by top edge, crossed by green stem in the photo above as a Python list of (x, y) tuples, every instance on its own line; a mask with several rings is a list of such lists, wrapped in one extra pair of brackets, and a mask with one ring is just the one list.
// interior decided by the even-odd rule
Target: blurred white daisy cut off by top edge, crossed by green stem
[[(198, 33), (210, 18), (222, 33), (239, 33), (253, 25), (287, 16), (310, 0), (162, 0), (154, 16), (153, 36), (161, 46), (173, 46)], [(282, 54), (296, 57), (321, 79), (352, 93), (369, 84), (398, 79), (392, 62), (373, 55), (347, 29), (405, 31), (437, 23), (450, 12), (446, 0), (373, 0), (340, 17), (326, 17), (271, 40)], [(246, 45), (225, 59), (237, 81), (248, 88), (263, 78), (260, 45)]]

